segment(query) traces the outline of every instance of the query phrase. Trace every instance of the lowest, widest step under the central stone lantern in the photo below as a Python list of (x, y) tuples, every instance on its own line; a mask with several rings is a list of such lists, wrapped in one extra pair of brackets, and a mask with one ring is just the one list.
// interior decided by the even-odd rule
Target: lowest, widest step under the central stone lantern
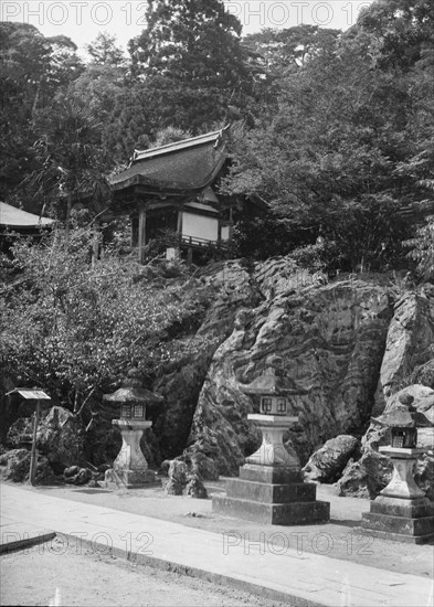
[(275, 525), (313, 524), (330, 519), (330, 504), (321, 501), (263, 503), (218, 494), (212, 497), (212, 510), (225, 517)]

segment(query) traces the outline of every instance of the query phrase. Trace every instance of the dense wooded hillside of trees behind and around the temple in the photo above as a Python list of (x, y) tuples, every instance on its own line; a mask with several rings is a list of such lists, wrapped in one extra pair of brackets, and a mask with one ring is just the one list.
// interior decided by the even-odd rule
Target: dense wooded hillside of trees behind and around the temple
[(345, 33), (299, 25), (244, 39), (221, 0), (148, 0), (129, 56), (100, 33), (85, 64), (65, 36), (2, 23), (1, 195), (35, 211), (54, 201), (65, 220), (87, 192), (95, 215), (109, 204), (105, 177), (134, 148), (232, 121), (226, 193), (268, 207), (240, 213), (240, 255), (307, 246), (330, 269), (383, 270), (411, 263), (406, 242), (421, 262), (433, 32), (430, 0), (374, 1)]

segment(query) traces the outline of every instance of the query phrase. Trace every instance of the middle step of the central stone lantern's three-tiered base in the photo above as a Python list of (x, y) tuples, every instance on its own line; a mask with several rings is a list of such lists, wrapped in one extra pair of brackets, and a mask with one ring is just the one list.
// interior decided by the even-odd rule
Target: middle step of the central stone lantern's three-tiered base
[(265, 503), (313, 502), (317, 486), (313, 482), (272, 484), (243, 479), (226, 480), (226, 496)]

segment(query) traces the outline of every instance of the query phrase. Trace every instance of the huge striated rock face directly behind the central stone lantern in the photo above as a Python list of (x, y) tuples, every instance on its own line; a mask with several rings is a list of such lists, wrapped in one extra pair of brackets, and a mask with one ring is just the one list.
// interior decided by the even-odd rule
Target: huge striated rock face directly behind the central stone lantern
[(204, 455), (223, 475), (235, 475), (261, 443), (246, 419), (258, 403), (240, 384), (262, 374), (271, 353), (297, 391), (290, 413), (299, 424), (287, 438), (301, 461), (327, 438), (360, 432), (371, 413), (392, 316), (388, 288), (372, 279), (274, 289), (278, 295), (237, 315), (199, 396), (186, 452)]

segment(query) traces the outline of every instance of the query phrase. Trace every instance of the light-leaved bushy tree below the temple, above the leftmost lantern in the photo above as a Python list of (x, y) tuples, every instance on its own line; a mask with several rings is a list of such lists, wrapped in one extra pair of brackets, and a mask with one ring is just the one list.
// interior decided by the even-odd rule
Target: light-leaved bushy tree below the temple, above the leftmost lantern
[[(178, 263), (144, 268), (105, 249), (92, 263), (91, 230), (63, 230), (35, 246), (18, 241), (2, 259), (0, 356), (3, 373), (44, 386), (75, 409), (131, 366), (157, 373), (194, 349), (183, 326), (200, 306), (184, 294)], [(154, 271), (154, 274), (152, 274)], [(166, 288), (150, 276), (174, 277)], [(170, 339), (169, 339), (170, 338)]]

